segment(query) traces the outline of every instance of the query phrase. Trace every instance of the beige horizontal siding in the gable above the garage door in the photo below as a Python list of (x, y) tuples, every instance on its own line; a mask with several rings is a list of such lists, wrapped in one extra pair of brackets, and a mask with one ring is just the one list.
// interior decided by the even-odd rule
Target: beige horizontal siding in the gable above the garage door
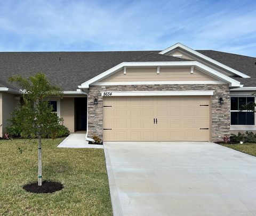
[(215, 81), (217, 79), (205, 74), (197, 69), (190, 73), (188, 68), (166, 68), (161, 67), (159, 74), (155, 68), (127, 68), (126, 74), (123, 70), (117, 71), (113, 75), (100, 82), (133, 82), (133, 81)]

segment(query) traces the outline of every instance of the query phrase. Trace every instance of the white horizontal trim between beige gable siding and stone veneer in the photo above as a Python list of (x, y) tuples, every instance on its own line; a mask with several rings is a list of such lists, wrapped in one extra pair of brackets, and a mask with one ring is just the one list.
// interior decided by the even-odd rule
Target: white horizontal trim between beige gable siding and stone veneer
[(223, 81), (132, 81), (132, 82), (95, 82), (96, 86), (126, 86), (126, 85), (196, 85), (196, 84), (225, 84)]

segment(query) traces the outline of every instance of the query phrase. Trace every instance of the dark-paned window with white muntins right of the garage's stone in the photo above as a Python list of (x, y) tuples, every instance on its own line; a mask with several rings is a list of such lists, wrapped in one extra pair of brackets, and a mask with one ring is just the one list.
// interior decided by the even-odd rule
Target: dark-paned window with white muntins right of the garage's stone
[(254, 101), (255, 97), (230, 97), (230, 125), (254, 125), (254, 112), (239, 111), (243, 105)]

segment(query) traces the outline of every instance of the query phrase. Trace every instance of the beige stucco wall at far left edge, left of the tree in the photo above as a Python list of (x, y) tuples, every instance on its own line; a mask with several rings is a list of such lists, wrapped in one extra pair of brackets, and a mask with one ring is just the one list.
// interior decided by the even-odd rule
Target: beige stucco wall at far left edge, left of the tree
[(15, 99), (15, 95), (9, 93), (0, 93), (0, 137), (6, 132), (7, 120), (11, 118), (11, 112), (15, 106), (19, 104), (19, 100)]

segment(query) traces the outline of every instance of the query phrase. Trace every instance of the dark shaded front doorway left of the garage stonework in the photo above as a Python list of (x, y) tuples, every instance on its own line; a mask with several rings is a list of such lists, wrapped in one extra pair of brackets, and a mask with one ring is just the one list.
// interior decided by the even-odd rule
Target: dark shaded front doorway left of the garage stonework
[(76, 130), (86, 130), (87, 126), (87, 97), (75, 98)]

